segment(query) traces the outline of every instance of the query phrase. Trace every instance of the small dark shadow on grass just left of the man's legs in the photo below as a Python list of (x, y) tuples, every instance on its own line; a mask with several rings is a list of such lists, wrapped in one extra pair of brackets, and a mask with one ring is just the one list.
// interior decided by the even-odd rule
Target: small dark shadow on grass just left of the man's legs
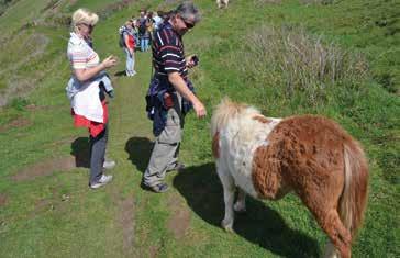
[(146, 137), (132, 137), (125, 144), (125, 152), (130, 155), (127, 158), (141, 172), (147, 168), (149, 156), (154, 143)]

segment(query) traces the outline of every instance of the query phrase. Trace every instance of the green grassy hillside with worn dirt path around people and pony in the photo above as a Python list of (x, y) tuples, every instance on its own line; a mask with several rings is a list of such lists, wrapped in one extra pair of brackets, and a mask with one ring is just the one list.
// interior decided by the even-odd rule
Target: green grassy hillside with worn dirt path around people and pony
[(359, 139), (370, 192), (353, 256), (399, 257), (398, 1), (248, 0), (232, 1), (227, 10), (196, 1), (203, 20), (185, 43), (187, 54), (200, 57), (191, 78), (209, 115), (187, 117), (181, 160), (188, 168), (167, 176), (166, 194), (140, 188), (153, 136), (144, 113), (151, 56), (137, 52), (137, 76), (113, 76), (108, 153), (118, 161), (115, 179), (99, 191), (87, 188), (88, 134), (74, 128), (69, 115), (63, 24), (78, 7), (105, 13), (95, 48), (102, 58), (119, 56), (110, 70), (118, 75), (124, 69), (118, 27), (143, 7), (175, 5), (165, 2), (129, 1), (118, 9), (109, 0), (20, 0), (0, 16), (7, 49), (0, 92), (8, 94), (0, 110), (0, 257), (321, 256), (326, 236), (293, 194), (248, 200), (236, 234), (220, 228), (223, 197), (209, 120), (224, 96), (268, 116), (322, 114)]

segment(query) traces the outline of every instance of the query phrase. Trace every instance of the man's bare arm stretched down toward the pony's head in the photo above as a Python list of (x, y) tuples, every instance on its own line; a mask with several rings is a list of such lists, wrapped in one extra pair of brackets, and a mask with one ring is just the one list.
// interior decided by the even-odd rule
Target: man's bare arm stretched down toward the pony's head
[(190, 103), (193, 105), (197, 117), (203, 117), (207, 115), (207, 111), (201, 101), (191, 92), (186, 86), (185, 80), (179, 72), (174, 71), (168, 74), (168, 80), (174, 88)]

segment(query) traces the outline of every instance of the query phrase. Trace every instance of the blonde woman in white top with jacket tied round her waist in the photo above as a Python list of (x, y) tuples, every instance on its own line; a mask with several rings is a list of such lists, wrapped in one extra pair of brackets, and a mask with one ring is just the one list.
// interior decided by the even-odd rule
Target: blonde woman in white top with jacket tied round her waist
[(89, 10), (75, 11), (67, 51), (73, 70), (67, 91), (75, 126), (88, 127), (90, 133), (89, 187), (91, 189), (110, 182), (112, 176), (105, 176), (103, 168), (112, 168), (115, 165), (114, 161), (104, 160), (108, 139), (108, 109), (104, 88), (111, 87), (111, 81), (104, 70), (115, 66), (116, 59), (109, 56), (100, 61), (99, 55), (92, 48), (91, 33), (98, 20), (99, 16)]

